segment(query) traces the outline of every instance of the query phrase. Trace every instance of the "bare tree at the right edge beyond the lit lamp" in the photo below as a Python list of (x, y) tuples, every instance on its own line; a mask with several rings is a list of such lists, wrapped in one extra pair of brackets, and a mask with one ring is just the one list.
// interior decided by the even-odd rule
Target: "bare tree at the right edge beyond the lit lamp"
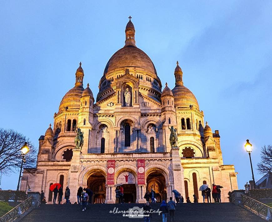
[(257, 170), (261, 174), (272, 173), (272, 145), (261, 148), (261, 161), (257, 164)]

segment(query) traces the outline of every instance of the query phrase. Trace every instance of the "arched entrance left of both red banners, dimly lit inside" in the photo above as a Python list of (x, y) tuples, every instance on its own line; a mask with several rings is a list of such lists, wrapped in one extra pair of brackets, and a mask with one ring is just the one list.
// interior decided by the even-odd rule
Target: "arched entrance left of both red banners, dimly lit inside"
[(106, 178), (101, 172), (94, 172), (87, 181), (88, 188), (93, 191), (92, 203), (102, 204), (106, 199)]

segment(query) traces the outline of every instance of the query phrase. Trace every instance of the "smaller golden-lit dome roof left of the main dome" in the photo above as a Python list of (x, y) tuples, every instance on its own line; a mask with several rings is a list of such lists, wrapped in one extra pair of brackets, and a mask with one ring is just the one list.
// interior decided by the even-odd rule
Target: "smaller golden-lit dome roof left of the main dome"
[(74, 108), (80, 108), (80, 97), (82, 95), (84, 88), (82, 86), (75, 86), (72, 89), (70, 89), (62, 98), (59, 110), (62, 111), (65, 110), (66, 107), (68, 109), (74, 109)]

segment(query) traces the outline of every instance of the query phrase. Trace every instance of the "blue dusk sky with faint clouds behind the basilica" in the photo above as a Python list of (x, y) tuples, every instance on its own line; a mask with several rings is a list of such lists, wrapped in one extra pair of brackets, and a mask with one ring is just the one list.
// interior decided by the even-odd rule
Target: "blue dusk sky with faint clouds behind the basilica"
[[(0, 115), (3, 128), (38, 147), (79, 61), (95, 97), (108, 59), (123, 47), (128, 16), (136, 45), (174, 87), (176, 61), (205, 121), (219, 130), (224, 164), (234, 164), (239, 188), (251, 179), (246, 139), (256, 171), (271, 143), (271, 1), (1, 1)], [(3, 176), (16, 189), (18, 173)]]

